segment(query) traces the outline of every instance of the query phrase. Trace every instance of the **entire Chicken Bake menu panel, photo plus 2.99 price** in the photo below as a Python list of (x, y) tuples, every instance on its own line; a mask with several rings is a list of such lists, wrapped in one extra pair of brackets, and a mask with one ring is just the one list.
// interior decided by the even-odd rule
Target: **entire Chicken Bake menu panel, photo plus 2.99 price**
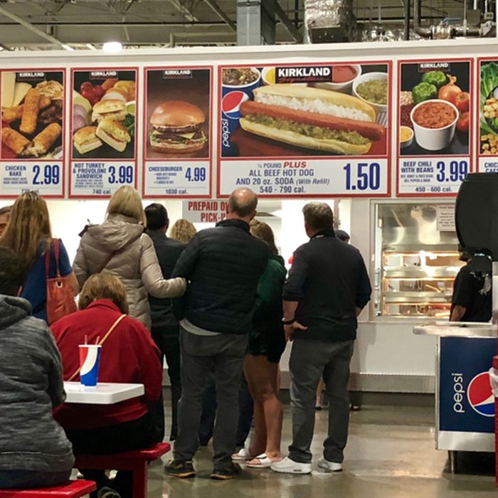
[(1, 70), (0, 194), (64, 196), (65, 70)]

